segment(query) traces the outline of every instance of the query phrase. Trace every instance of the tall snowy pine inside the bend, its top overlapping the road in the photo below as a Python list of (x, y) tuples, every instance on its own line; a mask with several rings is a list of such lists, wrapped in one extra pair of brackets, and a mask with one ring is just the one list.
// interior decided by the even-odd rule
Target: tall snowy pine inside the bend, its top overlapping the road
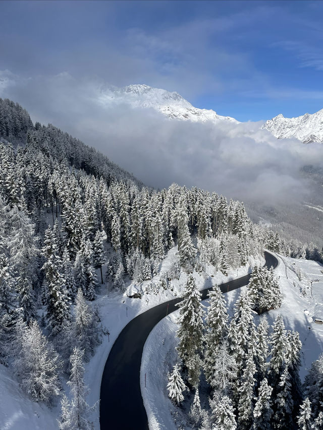
[(201, 303), (201, 293), (197, 290), (192, 275), (188, 275), (183, 291), (183, 300), (177, 306), (180, 308), (179, 329), (176, 334), (179, 338), (177, 350), (184, 368), (188, 372), (188, 382), (196, 387), (202, 365), (200, 355), (204, 340), (204, 306)]

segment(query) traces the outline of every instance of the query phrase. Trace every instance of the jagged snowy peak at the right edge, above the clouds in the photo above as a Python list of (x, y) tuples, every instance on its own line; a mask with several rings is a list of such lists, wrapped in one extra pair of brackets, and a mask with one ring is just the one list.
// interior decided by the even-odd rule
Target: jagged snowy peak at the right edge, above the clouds
[(296, 118), (285, 118), (279, 114), (268, 119), (262, 129), (269, 130), (278, 139), (296, 138), (304, 143), (323, 143), (323, 109)]

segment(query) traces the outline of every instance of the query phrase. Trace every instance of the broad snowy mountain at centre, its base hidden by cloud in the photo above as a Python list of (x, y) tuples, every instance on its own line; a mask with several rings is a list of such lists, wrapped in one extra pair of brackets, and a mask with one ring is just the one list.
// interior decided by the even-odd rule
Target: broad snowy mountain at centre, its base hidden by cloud
[(235, 122), (230, 116), (218, 115), (214, 110), (198, 109), (185, 100), (177, 92), (169, 92), (148, 85), (129, 85), (123, 88), (109, 87), (101, 90), (100, 102), (104, 105), (110, 103), (127, 103), (133, 107), (152, 108), (169, 116), (170, 118), (205, 122), (226, 120)]

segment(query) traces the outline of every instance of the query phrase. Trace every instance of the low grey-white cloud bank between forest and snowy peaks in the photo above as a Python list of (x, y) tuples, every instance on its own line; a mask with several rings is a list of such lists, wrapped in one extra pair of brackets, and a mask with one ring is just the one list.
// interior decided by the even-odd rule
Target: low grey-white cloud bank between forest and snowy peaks
[(20, 79), (0, 72), (0, 97), (22, 104), (33, 121), (68, 131), (155, 188), (178, 182), (243, 201), (293, 203), (309, 192), (301, 167), (323, 164), (321, 145), (277, 140), (260, 123), (192, 124), (149, 109), (105, 105), (103, 87), (66, 73)]

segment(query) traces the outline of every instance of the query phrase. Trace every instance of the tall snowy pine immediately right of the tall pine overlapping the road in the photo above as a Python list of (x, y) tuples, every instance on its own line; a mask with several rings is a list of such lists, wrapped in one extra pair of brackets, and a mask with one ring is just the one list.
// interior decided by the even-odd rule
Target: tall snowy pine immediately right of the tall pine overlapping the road
[(228, 335), (228, 314), (225, 298), (218, 287), (214, 285), (209, 291), (209, 308), (206, 316), (204, 372), (208, 383), (213, 378), (213, 366), (218, 354), (218, 347)]

